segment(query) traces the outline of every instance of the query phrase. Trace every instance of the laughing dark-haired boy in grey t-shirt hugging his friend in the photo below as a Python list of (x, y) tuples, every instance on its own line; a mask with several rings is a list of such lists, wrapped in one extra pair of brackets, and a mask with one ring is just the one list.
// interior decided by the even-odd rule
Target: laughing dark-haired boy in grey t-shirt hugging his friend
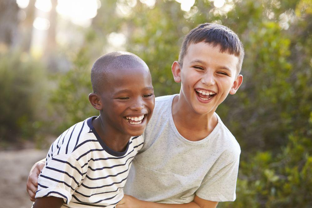
[[(240, 87), (243, 58), (241, 41), (225, 26), (205, 23), (188, 33), (172, 65), (180, 93), (156, 99), (125, 186), (132, 196), (117, 208), (216, 207), (235, 200), (240, 148), (215, 111)], [(39, 166), (29, 184), (36, 184)]]

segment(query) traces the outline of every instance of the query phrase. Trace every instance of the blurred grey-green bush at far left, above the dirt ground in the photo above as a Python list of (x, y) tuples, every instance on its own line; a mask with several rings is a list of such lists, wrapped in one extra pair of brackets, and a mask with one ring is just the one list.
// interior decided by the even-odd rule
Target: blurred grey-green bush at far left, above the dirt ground
[(29, 138), (41, 126), (38, 114), (44, 103), (45, 69), (27, 54), (0, 55), (0, 141)]

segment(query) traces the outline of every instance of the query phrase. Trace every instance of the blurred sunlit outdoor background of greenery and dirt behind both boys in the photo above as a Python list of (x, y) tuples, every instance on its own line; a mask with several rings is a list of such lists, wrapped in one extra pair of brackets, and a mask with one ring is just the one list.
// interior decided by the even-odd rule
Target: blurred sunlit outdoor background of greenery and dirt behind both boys
[(130, 51), (157, 96), (178, 93), (171, 65), (204, 22), (230, 27), (246, 51), (244, 82), (217, 109), (241, 145), (236, 201), (218, 207), (312, 207), (311, 0), (1, 0), (0, 207), (30, 207), (32, 164), (98, 114), (99, 56)]

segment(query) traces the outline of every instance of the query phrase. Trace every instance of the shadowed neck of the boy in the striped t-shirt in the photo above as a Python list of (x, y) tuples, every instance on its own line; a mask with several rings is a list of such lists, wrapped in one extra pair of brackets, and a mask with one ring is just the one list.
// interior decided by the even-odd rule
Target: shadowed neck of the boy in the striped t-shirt
[(92, 120), (92, 125), (107, 147), (115, 152), (125, 150), (131, 136), (110, 129), (108, 125), (103, 124), (100, 116)]

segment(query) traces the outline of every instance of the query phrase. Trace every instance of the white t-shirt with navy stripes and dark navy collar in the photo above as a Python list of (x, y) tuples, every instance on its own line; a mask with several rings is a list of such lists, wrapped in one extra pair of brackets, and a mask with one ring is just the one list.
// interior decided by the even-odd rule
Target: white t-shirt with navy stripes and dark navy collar
[(92, 126), (92, 117), (59, 136), (46, 156), (36, 198), (56, 196), (62, 207), (115, 207), (143, 137), (132, 137), (124, 152), (105, 145)]

